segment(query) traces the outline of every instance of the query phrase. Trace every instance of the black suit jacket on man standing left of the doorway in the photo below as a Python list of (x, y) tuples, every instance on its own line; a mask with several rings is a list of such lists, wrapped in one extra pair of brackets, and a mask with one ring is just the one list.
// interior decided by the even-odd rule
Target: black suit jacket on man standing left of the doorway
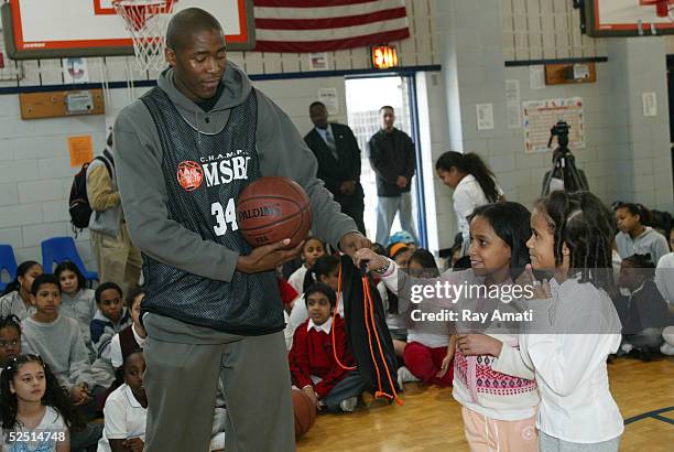
[[(358, 148), (358, 141), (356, 141), (356, 137), (348, 126), (330, 123), (330, 127), (339, 161), (335, 160), (333, 152), (315, 128), (304, 137), (306, 146), (318, 160), (316, 176), (325, 182), (325, 187), (333, 193), (335, 201), (339, 204), (362, 203), (363, 192), (360, 185), (360, 149)], [(357, 182), (356, 192), (350, 196), (345, 196), (339, 192), (339, 186), (346, 181)]]

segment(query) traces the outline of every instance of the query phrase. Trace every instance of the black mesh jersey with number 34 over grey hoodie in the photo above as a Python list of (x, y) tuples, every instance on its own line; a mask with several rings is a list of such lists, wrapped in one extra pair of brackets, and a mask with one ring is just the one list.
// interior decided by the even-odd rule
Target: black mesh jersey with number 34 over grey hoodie
[[(162, 146), (168, 218), (204, 240), (248, 255), (251, 247), (238, 230), (236, 204), (243, 187), (261, 175), (256, 150), (256, 90), (230, 110), (227, 125), (215, 134), (196, 130), (159, 87), (141, 100), (150, 110)], [(271, 271), (235, 271), (232, 280), (225, 282), (143, 254), (143, 311), (231, 334), (261, 335), (284, 327), (281, 297)]]

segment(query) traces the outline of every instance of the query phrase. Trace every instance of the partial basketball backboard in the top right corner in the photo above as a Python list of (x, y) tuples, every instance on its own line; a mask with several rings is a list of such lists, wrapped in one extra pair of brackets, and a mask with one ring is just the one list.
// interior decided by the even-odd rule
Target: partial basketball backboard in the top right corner
[(597, 37), (674, 34), (672, 8), (673, 0), (585, 0), (586, 31)]

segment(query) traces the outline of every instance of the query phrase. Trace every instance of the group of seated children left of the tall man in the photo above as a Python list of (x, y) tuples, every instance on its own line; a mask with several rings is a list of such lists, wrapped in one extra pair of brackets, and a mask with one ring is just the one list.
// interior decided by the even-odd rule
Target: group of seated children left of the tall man
[[(143, 450), (144, 293), (130, 290), (124, 305), (116, 283), (91, 291), (85, 282), (70, 262), (48, 275), (31, 261), (19, 267), (17, 280), (0, 299), (3, 429), (63, 432), (35, 435), (29, 449), (3, 434), (2, 450)], [(221, 451), (225, 443), (222, 397), (218, 400), (210, 451)], [(102, 424), (94, 421), (101, 410)]]

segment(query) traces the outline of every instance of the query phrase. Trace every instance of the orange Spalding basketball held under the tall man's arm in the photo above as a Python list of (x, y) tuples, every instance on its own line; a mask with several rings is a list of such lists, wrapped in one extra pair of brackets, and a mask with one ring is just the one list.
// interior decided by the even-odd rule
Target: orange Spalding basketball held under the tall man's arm
[(239, 195), (237, 223), (253, 248), (290, 238), (297, 246), (312, 227), (312, 207), (304, 190), (294, 181), (265, 176), (253, 181)]

